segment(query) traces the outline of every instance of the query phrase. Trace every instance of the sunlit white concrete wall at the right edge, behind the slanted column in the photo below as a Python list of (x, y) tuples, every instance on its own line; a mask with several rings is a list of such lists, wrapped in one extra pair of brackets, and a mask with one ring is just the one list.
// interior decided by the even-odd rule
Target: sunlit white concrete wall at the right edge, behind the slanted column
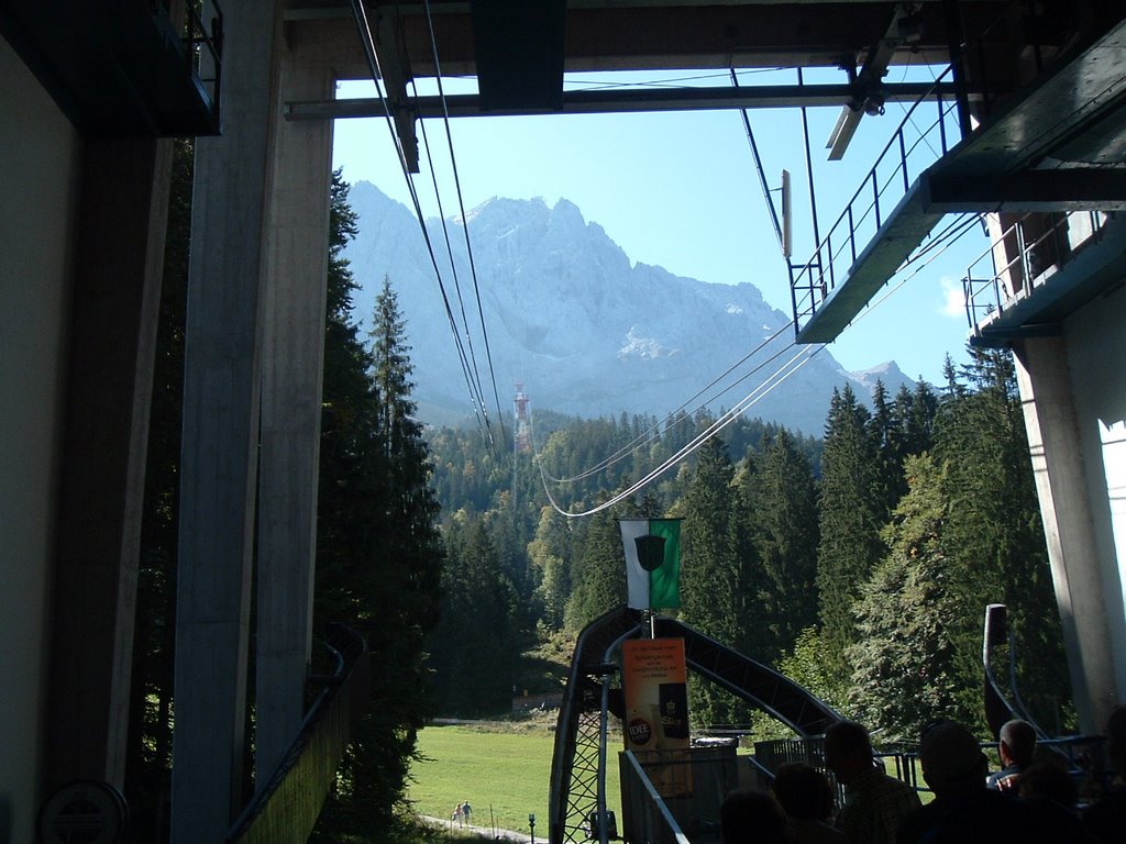
[[(1106, 603), (1116, 698), (1126, 702), (1126, 286), (1065, 323), (1080, 449), (1091, 501), (1091, 541)], [(1101, 726), (1101, 725), (1100, 725)]]

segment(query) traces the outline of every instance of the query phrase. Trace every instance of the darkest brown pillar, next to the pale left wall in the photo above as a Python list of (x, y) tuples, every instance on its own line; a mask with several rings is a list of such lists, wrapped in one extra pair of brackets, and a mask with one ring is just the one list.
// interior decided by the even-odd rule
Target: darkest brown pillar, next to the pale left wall
[(123, 789), (172, 142), (93, 140), (71, 302), (47, 792)]

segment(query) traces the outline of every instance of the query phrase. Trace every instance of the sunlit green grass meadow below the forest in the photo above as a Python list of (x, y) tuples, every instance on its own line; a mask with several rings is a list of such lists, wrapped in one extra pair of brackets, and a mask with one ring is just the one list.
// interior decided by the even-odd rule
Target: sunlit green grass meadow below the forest
[[(545, 724), (427, 727), (419, 733), (425, 761), (411, 767), (408, 797), (419, 815), (439, 818), (468, 800), (474, 825), (500, 829), (527, 832), (535, 814), (536, 838), (546, 841), (553, 743)], [(616, 755), (613, 764), (606, 799), (620, 817)]]

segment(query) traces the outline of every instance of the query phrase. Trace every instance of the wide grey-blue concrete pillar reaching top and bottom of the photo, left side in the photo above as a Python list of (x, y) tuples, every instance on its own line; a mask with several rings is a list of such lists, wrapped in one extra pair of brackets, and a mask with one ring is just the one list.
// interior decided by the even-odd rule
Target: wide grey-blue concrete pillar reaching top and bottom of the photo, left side
[(172, 844), (223, 839), (244, 802), (260, 280), (277, 0), (224, 7), (223, 134), (198, 138), (188, 270)]

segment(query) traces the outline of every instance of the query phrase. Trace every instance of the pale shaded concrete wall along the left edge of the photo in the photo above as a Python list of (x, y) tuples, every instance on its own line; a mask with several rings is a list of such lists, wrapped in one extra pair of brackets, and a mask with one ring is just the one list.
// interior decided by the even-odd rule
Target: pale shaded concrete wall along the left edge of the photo
[(0, 79), (0, 842), (29, 842), (81, 142), (3, 38)]

